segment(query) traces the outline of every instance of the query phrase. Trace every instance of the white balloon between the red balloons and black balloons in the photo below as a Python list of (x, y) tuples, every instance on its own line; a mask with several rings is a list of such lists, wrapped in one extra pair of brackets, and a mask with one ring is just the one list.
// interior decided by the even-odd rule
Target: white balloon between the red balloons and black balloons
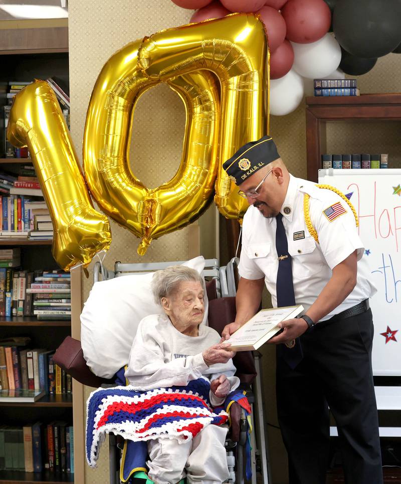
[(341, 48), (331, 34), (311, 44), (291, 44), (294, 49), (293, 69), (303, 77), (322, 79), (340, 65)]

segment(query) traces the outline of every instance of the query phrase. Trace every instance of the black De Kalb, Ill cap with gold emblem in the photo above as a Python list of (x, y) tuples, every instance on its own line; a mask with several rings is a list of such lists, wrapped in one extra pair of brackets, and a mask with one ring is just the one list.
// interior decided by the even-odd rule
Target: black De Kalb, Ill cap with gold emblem
[(280, 158), (273, 138), (267, 134), (256, 141), (250, 141), (236, 151), (223, 164), (230, 179), (241, 185), (255, 172), (265, 167), (275, 159)]

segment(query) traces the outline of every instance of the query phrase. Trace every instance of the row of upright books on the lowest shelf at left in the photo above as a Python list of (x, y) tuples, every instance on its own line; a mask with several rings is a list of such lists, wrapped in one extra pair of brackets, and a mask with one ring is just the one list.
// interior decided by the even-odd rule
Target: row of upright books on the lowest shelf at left
[(0, 470), (74, 473), (74, 427), (64, 421), (0, 425)]

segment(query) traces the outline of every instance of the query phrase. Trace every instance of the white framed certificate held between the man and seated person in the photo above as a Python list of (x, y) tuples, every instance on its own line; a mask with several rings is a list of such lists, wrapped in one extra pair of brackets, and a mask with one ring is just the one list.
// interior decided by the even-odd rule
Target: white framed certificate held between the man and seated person
[(291, 319), (303, 311), (303, 306), (262, 309), (226, 340), (234, 351), (257, 350), (280, 331), (279, 322)]

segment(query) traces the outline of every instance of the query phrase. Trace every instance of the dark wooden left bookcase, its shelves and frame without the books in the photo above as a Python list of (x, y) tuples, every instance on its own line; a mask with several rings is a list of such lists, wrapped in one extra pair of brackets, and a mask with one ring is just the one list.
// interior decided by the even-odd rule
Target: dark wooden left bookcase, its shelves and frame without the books
[[(56, 76), (68, 85), (67, 27), (0, 30), (0, 46), (2, 121), (9, 81), (31, 81), (34, 78), (46, 79)], [(4, 129), (3, 122), (1, 129)], [(32, 162), (28, 158), (0, 158), (0, 171), (16, 172), (18, 164), (30, 163)], [(0, 246), (21, 247), (21, 266), (24, 269), (58, 268), (51, 252), (52, 241), (0, 239)], [(32, 348), (56, 349), (64, 338), (71, 334), (71, 320), (38, 321), (35, 316), (2, 317), (0, 334), (2, 337), (29, 336)], [(28, 422), (52, 420), (73, 423), (71, 394), (47, 395), (29, 404), (0, 402), (0, 424), (23, 426)], [(48, 470), (42, 473), (0, 470), (1, 482), (74, 482), (74, 474), (51, 473)]]

